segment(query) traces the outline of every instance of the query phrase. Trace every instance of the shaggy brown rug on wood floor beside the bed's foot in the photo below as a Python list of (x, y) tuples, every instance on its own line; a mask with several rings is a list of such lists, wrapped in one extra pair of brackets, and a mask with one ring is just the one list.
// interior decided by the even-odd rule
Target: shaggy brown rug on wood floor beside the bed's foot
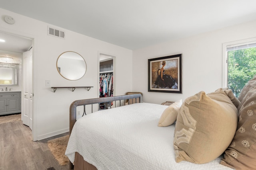
[(64, 137), (59, 137), (56, 139), (52, 139), (48, 141), (48, 147), (52, 152), (54, 158), (58, 161), (58, 163), (63, 166), (69, 163), (68, 157), (65, 155), (65, 151), (68, 145), (69, 135)]

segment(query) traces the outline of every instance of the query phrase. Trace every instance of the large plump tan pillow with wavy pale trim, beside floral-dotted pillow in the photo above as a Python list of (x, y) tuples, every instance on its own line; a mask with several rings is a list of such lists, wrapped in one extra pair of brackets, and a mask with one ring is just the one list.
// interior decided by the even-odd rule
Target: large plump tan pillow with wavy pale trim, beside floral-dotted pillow
[(203, 164), (230, 145), (238, 121), (237, 108), (222, 89), (187, 98), (178, 112), (174, 131), (176, 162)]

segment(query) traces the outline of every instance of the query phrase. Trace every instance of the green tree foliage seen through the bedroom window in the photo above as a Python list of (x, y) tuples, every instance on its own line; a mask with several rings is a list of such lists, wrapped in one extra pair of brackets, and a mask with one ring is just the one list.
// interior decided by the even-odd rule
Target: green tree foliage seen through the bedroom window
[(256, 74), (256, 47), (228, 51), (228, 88), (236, 97)]

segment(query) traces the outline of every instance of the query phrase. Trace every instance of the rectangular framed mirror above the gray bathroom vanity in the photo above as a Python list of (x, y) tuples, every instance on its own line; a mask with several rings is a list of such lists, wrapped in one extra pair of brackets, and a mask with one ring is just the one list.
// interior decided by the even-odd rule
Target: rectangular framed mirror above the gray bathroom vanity
[(18, 85), (18, 65), (0, 64), (0, 86)]

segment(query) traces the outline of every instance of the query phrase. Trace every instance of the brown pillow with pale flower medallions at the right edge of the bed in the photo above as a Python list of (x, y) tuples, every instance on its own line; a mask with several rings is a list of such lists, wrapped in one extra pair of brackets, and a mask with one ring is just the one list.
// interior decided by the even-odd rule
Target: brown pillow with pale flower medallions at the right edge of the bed
[(238, 107), (236, 135), (220, 164), (241, 170), (256, 169), (256, 87), (247, 92)]

